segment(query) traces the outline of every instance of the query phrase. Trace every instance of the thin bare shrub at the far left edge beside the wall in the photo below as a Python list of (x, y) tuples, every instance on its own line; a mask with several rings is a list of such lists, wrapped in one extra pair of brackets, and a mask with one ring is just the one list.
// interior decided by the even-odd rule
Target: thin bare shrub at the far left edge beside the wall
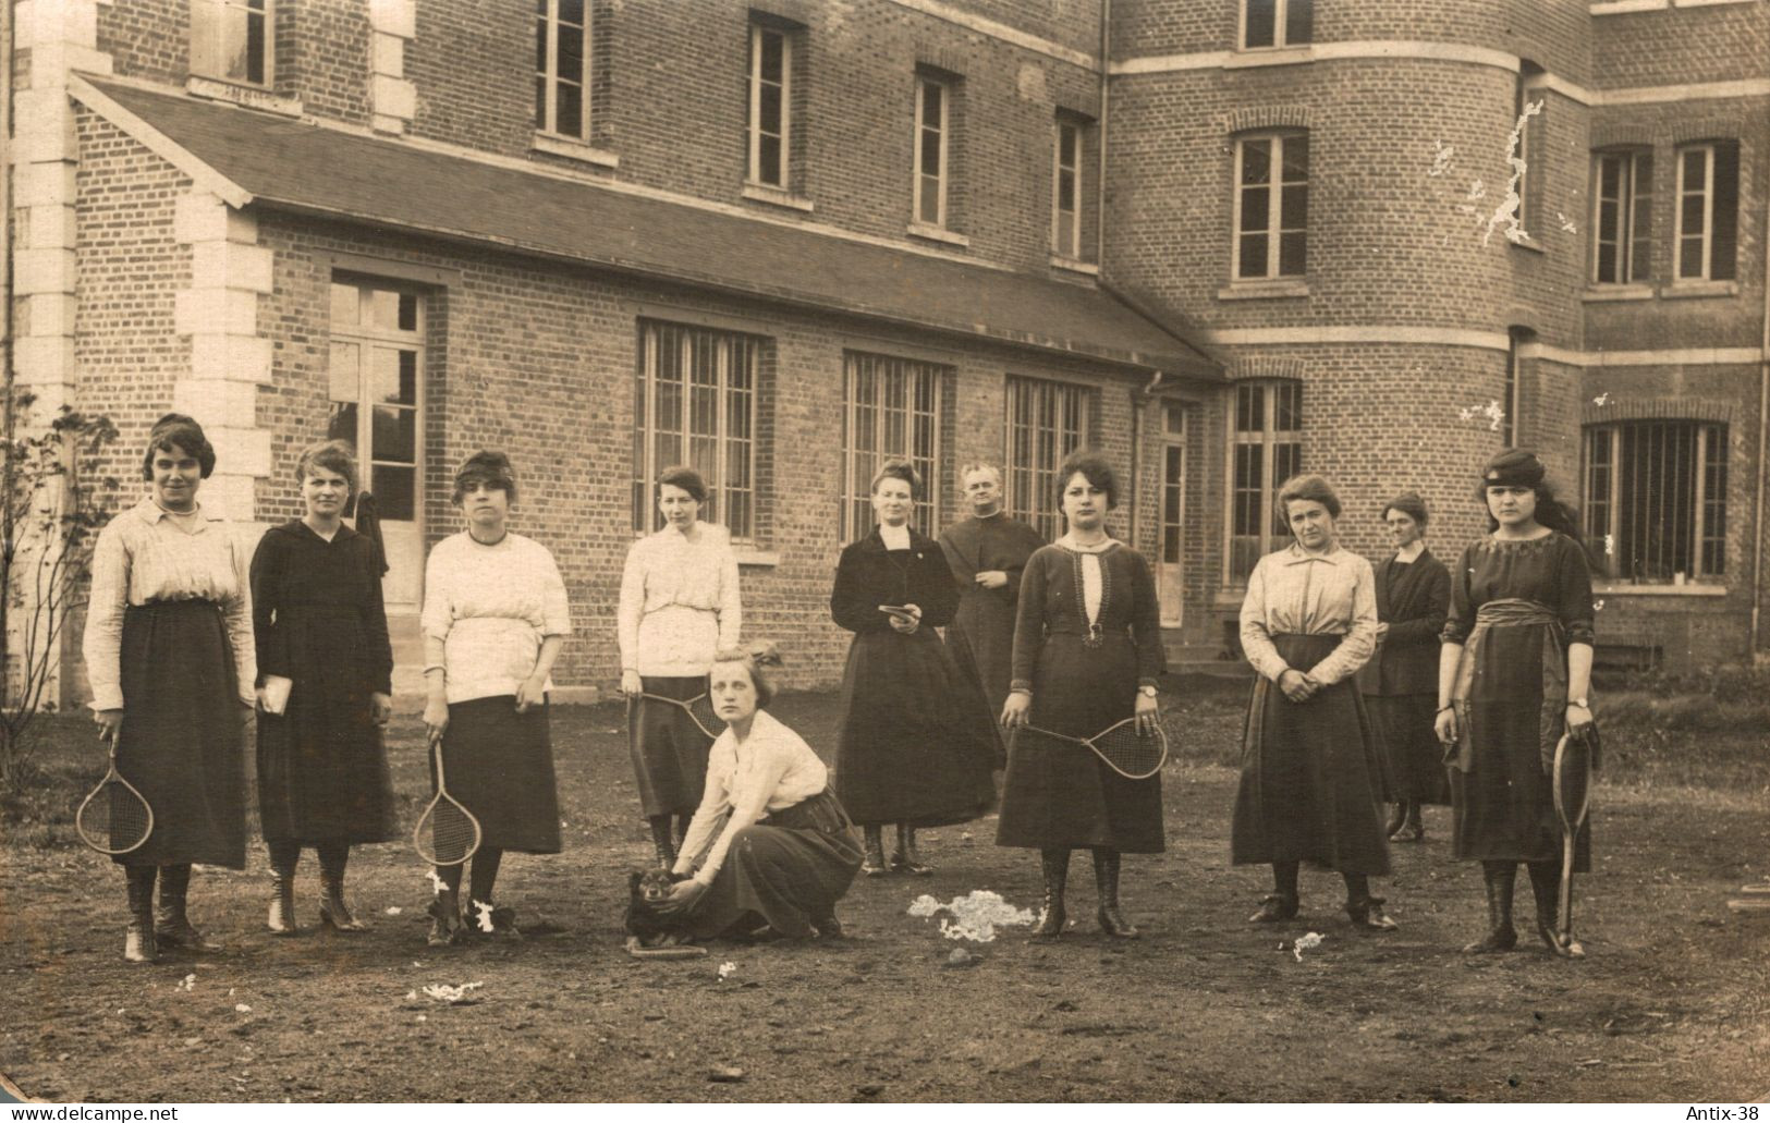
[(115, 476), (103, 475), (117, 427), (62, 406), (46, 427), (19, 436), (35, 395), (14, 390), (0, 439), (0, 783), (18, 783), (55, 710), (60, 639), (87, 604), (92, 546), (108, 521)]

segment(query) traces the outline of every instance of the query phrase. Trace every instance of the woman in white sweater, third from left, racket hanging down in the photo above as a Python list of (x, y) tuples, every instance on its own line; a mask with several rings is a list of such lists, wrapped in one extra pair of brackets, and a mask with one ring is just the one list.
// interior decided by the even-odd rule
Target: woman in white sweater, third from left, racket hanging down
[[(455, 473), (467, 530), (425, 565), (425, 728), (442, 742), (450, 795), (480, 820), (466, 916), (478, 933), (515, 932), (513, 912), (492, 905), (504, 850), (559, 852), (547, 691), (572, 618), (552, 554), (508, 530), (515, 500), (510, 457), (469, 457)], [(437, 879), (430, 944), (444, 946), (462, 935), (460, 866)]]

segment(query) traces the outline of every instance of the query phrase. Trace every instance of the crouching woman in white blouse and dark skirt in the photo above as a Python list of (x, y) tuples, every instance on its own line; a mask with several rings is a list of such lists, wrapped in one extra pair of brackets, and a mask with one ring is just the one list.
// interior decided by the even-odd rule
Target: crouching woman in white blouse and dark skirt
[(839, 939), (835, 902), (860, 870), (860, 834), (798, 733), (761, 707), (773, 684), (747, 652), (719, 652), (708, 673), (726, 732), (660, 905), (696, 939), (724, 933)]

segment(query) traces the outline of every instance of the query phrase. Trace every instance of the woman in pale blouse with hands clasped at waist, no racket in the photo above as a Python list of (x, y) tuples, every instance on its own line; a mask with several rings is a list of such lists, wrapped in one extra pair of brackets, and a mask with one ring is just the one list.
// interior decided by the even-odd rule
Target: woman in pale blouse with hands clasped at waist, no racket
[(1278, 507), (1296, 542), (1260, 558), (1241, 606), (1241, 647), (1258, 677), (1230, 850), (1235, 864), (1273, 866), (1273, 895), (1248, 919), (1292, 919), (1308, 861), (1345, 879), (1354, 926), (1393, 930), (1370, 895), (1370, 877), (1389, 871), (1389, 847), (1377, 747), (1352, 680), (1375, 648), (1375, 577), (1335, 542), (1340, 500), (1326, 480), (1287, 480)]

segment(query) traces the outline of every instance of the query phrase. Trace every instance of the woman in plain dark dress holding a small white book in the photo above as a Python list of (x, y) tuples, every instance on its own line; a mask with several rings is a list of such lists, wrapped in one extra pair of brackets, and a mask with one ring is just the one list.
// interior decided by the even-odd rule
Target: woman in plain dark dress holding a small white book
[(273, 526), (251, 558), (258, 639), (258, 815), (271, 852), (269, 928), (296, 925), (301, 847), (320, 859), (320, 923), (368, 928), (343, 898), (352, 843), (388, 841), (393, 786), (381, 730), (393, 712), (393, 647), (381, 549), (343, 524), (356, 459), (313, 445), (296, 469), (306, 515)]

